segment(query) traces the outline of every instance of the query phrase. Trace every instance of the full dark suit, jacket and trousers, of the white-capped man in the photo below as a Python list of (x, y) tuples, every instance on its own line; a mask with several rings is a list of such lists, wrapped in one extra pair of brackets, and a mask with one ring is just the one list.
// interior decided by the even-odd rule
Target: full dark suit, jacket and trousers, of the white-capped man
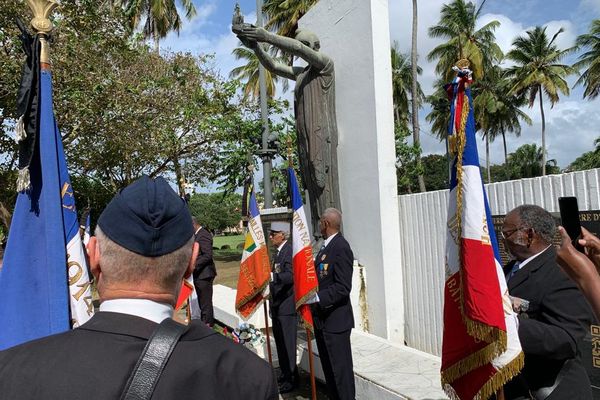
[(273, 261), (271, 291), (271, 318), (273, 337), (283, 381), (294, 383), (296, 371), (296, 333), (298, 317), (294, 300), (294, 271), (292, 268), (292, 244), (288, 240)]

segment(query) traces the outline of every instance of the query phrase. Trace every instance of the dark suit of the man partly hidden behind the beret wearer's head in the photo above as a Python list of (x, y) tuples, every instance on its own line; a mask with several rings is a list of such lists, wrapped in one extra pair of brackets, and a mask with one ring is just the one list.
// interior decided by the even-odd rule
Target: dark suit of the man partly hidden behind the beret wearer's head
[(200, 245), (200, 252), (194, 268), (194, 286), (198, 295), (198, 305), (202, 321), (212, 325), (214, 322), (212, 286), (215, 276), (217, 276), (215, 262), (212, 259), (212, 235), (205, 228), (200, 228), (194, 240)]

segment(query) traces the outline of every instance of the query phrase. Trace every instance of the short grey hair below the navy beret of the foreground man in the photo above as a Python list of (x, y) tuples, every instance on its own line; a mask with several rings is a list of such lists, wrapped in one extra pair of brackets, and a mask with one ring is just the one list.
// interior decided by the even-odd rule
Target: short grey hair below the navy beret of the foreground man
[(99, 226), (96, 227), (95, 233), (100, 248), (102, 274), (108, 284), (137, 284), (150, 281), (168, 291), (176, 290), (181, 285), (181, 279), (192, 257), (193, 236), (171, 253), (146, 257), (113, 242)]

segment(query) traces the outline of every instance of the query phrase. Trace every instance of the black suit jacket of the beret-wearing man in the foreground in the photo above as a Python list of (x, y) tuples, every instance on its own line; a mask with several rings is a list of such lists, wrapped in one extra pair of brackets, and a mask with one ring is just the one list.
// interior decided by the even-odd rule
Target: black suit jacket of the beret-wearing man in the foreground
[[(0, 352), (2, 399), (118, 399), (157, 324), (99, 312), (80, 328)], [(153, 399), (277, 399), (272, 368), (194, 321)]]

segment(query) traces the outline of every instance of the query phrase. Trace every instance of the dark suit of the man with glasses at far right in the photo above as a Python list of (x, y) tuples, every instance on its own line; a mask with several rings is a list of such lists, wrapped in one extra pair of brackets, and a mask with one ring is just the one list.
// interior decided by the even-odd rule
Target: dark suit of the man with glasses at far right
[[(512, 270), (509, 263), (505, 274)], [(581, 363), (580, 346), (589, 332), (592, 312), (581, 292), (556, 264), (553, 246), (516, 271), (508, 280), (511, 296), (529, 301), (519, 315), (519, 339), (525, 353), (521, 374), (505, 386), (507, 400), (552, 387), (547, 400), (592, 398)], [(557, 378), (558, 377), (558, 378)]]

